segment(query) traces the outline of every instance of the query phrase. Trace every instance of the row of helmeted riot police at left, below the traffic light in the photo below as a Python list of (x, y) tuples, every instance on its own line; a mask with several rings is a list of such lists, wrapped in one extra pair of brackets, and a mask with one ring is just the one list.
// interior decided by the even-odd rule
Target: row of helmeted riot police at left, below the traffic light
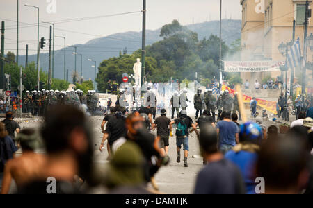
[(49, 108), (59, 105), (86, 106), (86, 111), (93, 116), (97, 110), (99, 98), (94, 90), (89, 90), (85, 95), (80, 89), (67, 91), (42, 89), (32, 92), (27, 90), (22, 102), (22, 112), (33, 116), (44, 116)]

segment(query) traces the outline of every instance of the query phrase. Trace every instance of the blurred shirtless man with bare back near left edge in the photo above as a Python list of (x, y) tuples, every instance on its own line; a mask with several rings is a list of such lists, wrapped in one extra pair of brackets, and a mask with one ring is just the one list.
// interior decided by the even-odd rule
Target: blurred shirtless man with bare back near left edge
[(24, 184), (40, 177), (40, 173), (45, 164), (45, 156), (35, 153), (35, 150), (42, 148), (42, 141), (33, 129), (21, 130), (17, 135), (17, 141), (22, 147), (22, 156), (10, 159), (6, 163), (3, 173), (3, 184), (1, 194), (7, 194), (11, 181), (17, 184), (17, 189)]

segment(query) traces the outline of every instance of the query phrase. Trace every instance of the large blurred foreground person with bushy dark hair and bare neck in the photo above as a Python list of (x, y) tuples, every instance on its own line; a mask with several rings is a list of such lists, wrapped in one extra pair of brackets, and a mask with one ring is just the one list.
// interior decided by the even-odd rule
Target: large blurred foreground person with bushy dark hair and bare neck
[(86, 115), (76, 107), (62, 106), (47, 112), (41, 135), (47, 152), (42, 173), (19, 193), (47, 194), (47, 179), (56, 180), (56, 193), (81, 193), (74, 176), (92, 182), (93, 141)]

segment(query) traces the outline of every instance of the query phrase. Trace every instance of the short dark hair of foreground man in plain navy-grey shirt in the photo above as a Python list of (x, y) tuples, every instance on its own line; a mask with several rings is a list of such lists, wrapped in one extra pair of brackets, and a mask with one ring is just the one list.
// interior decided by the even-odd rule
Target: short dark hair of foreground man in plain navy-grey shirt
[(212, 154), (218, 151), (218, 135), (211, 125), (204, 126), (200, 130), (199, 137), (200, 150), (202, 154)]

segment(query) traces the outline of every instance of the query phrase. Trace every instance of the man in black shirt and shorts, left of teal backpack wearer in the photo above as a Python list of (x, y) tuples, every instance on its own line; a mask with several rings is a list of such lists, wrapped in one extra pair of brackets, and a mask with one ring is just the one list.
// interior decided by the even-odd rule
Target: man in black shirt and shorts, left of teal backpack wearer
[(156, 127), (158, 129), (157, 136), (160, 137), (161, 151), (163, 156), (168, 155), (168, 146), (170, 145), (168, 139), (170, 132), (172, 132), (172, 125), (174, 123), (174, 121), (170, 121), (170, 119), (166, 117), (166, 110), (162, 109), (161, 116), (159, 116), (159, 118), (157, 118), (152, 125), (153, 129)]

